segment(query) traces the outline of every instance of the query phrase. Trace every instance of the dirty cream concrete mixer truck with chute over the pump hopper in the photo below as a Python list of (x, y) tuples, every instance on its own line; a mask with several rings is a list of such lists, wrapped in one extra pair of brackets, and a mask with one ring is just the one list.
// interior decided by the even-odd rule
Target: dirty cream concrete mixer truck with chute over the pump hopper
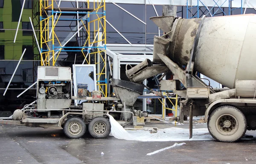
[[(173, 80), (160, 81), (160, 89), (184, 98), (177, 119), (189, 116), (190, 137), (192, 117), (199, 115), (217, 141), (237, 141), (246, 130), (256, 130), (256, 15), (151, 20), (165, 35), (154, 36), (153, 62), (147, 59), (126, 70), (128, 78), (140, 83), (172, 72)], [(198, 72), (226, 87), (212, 89)]]

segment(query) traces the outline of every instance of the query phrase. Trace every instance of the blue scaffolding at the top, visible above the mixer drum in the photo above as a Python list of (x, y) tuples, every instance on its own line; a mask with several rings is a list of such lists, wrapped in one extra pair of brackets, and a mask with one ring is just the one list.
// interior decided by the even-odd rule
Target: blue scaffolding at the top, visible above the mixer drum
[[(194, 2), (194, 0), (187, 0), (186, 3), (186, 18), (190, 19), (190, 18), (200, 18), (203, 15), (207, 15), (208, 14), (211, 17), (214, 16), (219, 16), (219, 14), (224, 15), (232, 15), (234, 10), (240, 9), (241, 10), (241, 14), (243, 14), (243, 8), (242, 8), (242, 2), (243, 0), (236, 0), (239, 1), (239, 3), (241, 2), (241, 6), (233, 9), (232, 7), (232, 1), (235, 0), (224, 0), (219, 2), (219, 0), (212, 0), (212, 2), (214, 3), (214, 5), (212, 7), (208, 7), (206, 2), (204, 0), (195, 0), (195, 4), (196, 5), (192, 5), (192, 1)], [(190, 3), (190, 6), (189, 6)], [(224, 5), (225, 3), (228, 3), (228, 12), (224, 11)]]

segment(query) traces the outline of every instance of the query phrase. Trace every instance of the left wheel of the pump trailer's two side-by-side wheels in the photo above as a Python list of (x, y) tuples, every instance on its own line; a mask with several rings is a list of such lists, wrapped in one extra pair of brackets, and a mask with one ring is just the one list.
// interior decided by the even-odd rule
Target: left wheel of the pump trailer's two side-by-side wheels
[(80, 138), (86, 131), (86, 125), (81, 118), (71, 117), (65, 121), (63, 131), (69, 138)]

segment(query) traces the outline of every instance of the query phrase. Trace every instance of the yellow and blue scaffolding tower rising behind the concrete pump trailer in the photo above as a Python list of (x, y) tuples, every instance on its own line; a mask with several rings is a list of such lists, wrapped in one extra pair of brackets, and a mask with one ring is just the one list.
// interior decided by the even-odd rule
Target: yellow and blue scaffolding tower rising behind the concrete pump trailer
[[(67, 1), (64, 1), (67, 3)], [(84, 56), (82, 64), (96, 65), (97, 89), (107, 96), (106, 64), (106, 14), (105, 0), (70, 1), (63, 7), (61, 0), (40, 0), (40, 40), (41, 65), (55, 66), (61, 52), (74, 52)], [(75, 4), (75, 5), (74, 5)], [(81, 5), (85, 4), (85, 6)], [(61, 41), (55, 28), (58, 21), (76, 23), (70, 29), (67, 40)], [(82, 32), (84, 31), (84, 32)], [(75, 37), (75, 39), (73, 39)], [(76, 40), (76, 46), (69, 46), (70, 40)], [(104, 46), (100, 46), (104, 45)], [(100, 48), (103, 48), (100, 50)]]

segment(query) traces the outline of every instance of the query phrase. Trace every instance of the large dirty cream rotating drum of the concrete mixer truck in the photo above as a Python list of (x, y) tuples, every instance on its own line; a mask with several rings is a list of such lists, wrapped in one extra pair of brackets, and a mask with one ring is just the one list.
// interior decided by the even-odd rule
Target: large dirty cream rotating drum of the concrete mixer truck
[[(159, 19), (163, 18), (151, 18), (157, 26), (162, 26), (161, 29), (166, 29), (163, 28), (166, 23)], [(230, 89), (235, 88), (236, 79), (256, 80), (256, 69), (252, 69), (256, 61), (255, 14), (175, 21), (172, 24), (174, 33), (169, 35), (170, 38), (173, 35), (173, 39), (166, 50), (175, 63), (186, 65), (189, 62), (196, 40), (195, 71)]]

